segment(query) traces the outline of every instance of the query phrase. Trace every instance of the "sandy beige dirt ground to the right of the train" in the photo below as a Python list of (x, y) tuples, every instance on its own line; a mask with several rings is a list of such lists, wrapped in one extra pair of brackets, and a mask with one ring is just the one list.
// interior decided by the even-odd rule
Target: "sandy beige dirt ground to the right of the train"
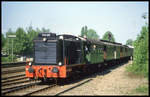
[[(143, 77), (131, 76), (126, 72), (125, 67), (131, 62), (95, 74), (89, 78), (90, 81), (83, 82), (84, 84), (80, 86), (72, 84), (75, 88), (68, 89), (67, 92), (60, 95), (145, 95), (133, 92), (139, 85), (148, 84), (148, 80)], [(62, 86), (62, 89), (67, 86), (71, 85)]]

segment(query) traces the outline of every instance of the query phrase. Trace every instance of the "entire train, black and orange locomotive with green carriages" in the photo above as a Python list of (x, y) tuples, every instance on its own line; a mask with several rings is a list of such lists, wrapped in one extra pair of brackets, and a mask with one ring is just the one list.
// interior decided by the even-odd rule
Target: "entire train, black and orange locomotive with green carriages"
[(39, 33), (33, 42), (34, 60), (27, 62), (25, 73), (42, 81), (65, 79), (133, 58), (133, 48), (127, 45), (70, 34)]

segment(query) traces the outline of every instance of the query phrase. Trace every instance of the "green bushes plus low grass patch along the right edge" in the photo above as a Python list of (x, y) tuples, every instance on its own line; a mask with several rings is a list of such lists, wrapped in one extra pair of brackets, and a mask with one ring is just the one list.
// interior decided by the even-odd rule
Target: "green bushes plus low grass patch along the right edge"
[[(142, 27), (140, 35), (137, 36), (136, 40), (133, 42), (134, 53), (133, 53), (133, 63), (126, 67), (127, 72), (132, 73), (134, 76), (144, 76), (147, 80), (149, 79), (149, 47), (148, 47), (148, 25)], [(137, 86), (133, 90), (133, 93), (148, 94), (149, 85), (142, 84)]]

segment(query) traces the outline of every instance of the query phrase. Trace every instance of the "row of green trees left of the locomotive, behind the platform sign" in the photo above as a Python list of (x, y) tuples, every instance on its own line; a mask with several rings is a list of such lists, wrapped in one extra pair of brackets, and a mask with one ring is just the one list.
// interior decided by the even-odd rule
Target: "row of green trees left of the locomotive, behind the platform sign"
[[(38, 33), (48, 33), (49, 29), (42, 28), (40, 30), (37, 28), (34, 30), (32, 26), (29, 26), (26, 30), (23, 28), (18, 28), (16, 31), (9, 29), (6, 32), (6, 39), (3, 44), (3, 48), (7, 51), (8, 55), (12, 54), (12, 42), (13, 42), (13, 54), (14, 55), (23, 55), (23, 56), (32, 56), (33, 55), (33, 39), (38, 35)], [(16, 38), (8, 38), (8, 35), (16, 35)], [(3, 38), (3, 35), (2, 35)], [(12, 41), (13, 40), (13, 41)], [(2, 60), (10, 61), (10, 58), (2, 58)]]

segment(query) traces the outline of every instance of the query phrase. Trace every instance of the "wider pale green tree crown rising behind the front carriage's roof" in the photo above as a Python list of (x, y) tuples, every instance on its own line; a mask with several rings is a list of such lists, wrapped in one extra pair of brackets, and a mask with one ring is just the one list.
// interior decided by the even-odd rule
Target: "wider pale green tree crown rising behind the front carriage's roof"
[(81, 29), (81, 36), (84, 37), (86, 36), (87, 38), (90, 38), (90, 39), (98, 39), (99, 36), (97, 35), (96, 31), (93, 30), (93, 29), (89, 29), (87, 28), (87, 26), (85, 27), (82, 27)]

